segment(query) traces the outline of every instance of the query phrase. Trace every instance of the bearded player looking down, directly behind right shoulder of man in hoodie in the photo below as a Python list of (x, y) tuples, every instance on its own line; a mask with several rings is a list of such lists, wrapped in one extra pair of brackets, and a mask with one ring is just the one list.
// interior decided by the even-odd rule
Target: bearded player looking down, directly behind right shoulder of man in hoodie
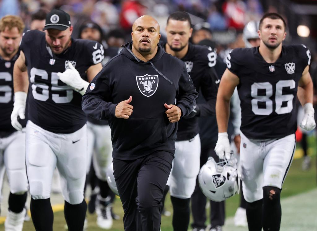
[(167, 19), (167, 43), (162, 45), (166, 53), (184, 61), (196, 90), (201, 89), (207, 101), (196, 104), (191, 114), (178, 122), (175, 158), (167, 181), (174, 210), (174, 230), (188, 229), (190, 198), (200, 169), (198, 117), (215, 113), (217, 95), (217, 74), (213, 68), (217, 54), (210, 47), (189, 43), (192, 30), (191, 19), (187, 13), (172, 13)]

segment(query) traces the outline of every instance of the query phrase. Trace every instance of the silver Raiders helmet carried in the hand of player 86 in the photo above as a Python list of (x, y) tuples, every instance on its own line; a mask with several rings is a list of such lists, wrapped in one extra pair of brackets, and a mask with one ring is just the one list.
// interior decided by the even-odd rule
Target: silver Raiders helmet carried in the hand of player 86
[(212, 157), (208, 158), (198, 175), (200, 189), (206, 197), (220, 202), (240, 192), (240, 177), (236, 163), (236, 158), (219, 163)]

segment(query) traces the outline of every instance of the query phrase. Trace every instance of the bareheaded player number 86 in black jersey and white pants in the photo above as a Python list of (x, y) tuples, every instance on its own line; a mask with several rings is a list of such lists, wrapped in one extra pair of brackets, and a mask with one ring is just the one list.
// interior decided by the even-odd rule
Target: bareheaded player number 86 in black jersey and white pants
[(216, 153), (230, 158), (227, 134), (229, 101), (237, 86), (241, 100), (241, 146), (243, 195), (247, 201), (249, 230), (279, 230), (280, 194), (295, 150), (296, 92), (305, 110), (300, 124), (312, 130), (313, 83), (308, 72), (311, 55), (304, 45), (282, 46), (285, 20), (267, 13), (260, 20), (260, 46), (239, 48), (227, 56), (227, 69), (218, 89)]

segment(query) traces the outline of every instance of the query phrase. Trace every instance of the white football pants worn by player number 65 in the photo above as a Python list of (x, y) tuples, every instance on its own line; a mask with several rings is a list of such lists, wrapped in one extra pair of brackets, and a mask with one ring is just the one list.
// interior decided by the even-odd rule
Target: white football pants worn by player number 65
[(65, 201), (84, 199), (87, 159), (87, 125), (70, 134), (52, 133), (28, 121), (26, 125), (26, 169), (33, 199), (50, 197), (55, 166), (61, 177)]

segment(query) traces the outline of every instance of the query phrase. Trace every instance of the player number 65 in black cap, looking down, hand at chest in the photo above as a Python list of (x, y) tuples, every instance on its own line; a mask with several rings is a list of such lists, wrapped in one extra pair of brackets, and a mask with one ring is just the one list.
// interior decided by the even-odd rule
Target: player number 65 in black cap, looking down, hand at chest
[(31, 30), (23, 36), (14, 66), (11, 122), (21, 130), (18, 118), (24, 117), (27, 107), (26, 168), (36, 230), (53, 229), (50, 191), (55, 166), (61, 176), (68, 229), (83, 230), (87, 116), (81, 99), (102, 68), (104, 51), (98, 42), (71, 39), (70, 16), (60, 9), (48, 13), (44, 30)]

